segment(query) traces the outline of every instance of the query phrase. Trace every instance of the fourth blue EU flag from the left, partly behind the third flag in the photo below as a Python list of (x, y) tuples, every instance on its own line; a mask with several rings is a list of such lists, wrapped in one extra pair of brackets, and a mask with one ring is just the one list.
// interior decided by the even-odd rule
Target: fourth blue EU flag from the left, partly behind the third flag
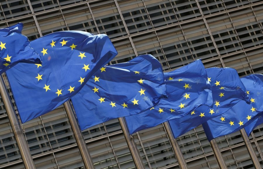
[(125, 117), (130, 134), (183, 117), (200, 105), (212, 105), (211, 86), (201, 60), (164, 75), (168, 98), (161, 98), (150, 110)]

